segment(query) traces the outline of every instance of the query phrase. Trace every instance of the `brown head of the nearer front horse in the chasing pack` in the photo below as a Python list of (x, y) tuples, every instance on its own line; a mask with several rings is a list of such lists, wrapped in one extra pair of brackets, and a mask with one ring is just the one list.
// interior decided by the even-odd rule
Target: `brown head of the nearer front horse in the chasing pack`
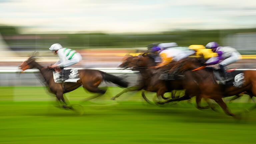
[(139, 68), (148, 68), (154, 65), (154, 61), (147, 55), (139, 55), (134, 57), (129, 63), (128, 67), (132, 67), (133, 70)]

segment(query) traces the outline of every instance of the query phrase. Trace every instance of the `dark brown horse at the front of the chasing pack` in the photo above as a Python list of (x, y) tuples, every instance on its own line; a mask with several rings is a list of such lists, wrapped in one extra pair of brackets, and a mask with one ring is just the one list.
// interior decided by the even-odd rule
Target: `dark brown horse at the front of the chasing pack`
[[(129, 59), (126, 59), (129, 60)], [(123, 63), (127, 63), (124, 61)], [(172, 64), (170, 64), (172, 66)], [(183, 89), (181, 86), (181, 81), (173, 81), (172, 85), (167, 85), (165, 80), (160, 80), (159, 76), (165, 69), (149, 69), (152, 66), (156, 66), (154, 59), (150, 55), (140, 55), (134, 57), (127, 67), (132, 67), (132, 70), (136, 70), (140, 72), (140, 80), (139, 83), (135, 86), (129, 87), (116, 96), (112, 97), (111, 99), (114, 100), (115, 98), (119, 97), (123, 93), (129, 91), (139, 91), (139, 90), (146, 90), (150, 92), (156, 92), (158, 99), (168, 99), (164, 97), (164, 93), (171, 92), (174, 89)], [(168, 67), (167, 67), (168, 69)], [(169, 83), (168, 83), (169, 84)], [(142, 91), (143, 98), (149, 102), (146, 98), (144, 91)], [(149, 102), (150, 103), (150, 102)]]

